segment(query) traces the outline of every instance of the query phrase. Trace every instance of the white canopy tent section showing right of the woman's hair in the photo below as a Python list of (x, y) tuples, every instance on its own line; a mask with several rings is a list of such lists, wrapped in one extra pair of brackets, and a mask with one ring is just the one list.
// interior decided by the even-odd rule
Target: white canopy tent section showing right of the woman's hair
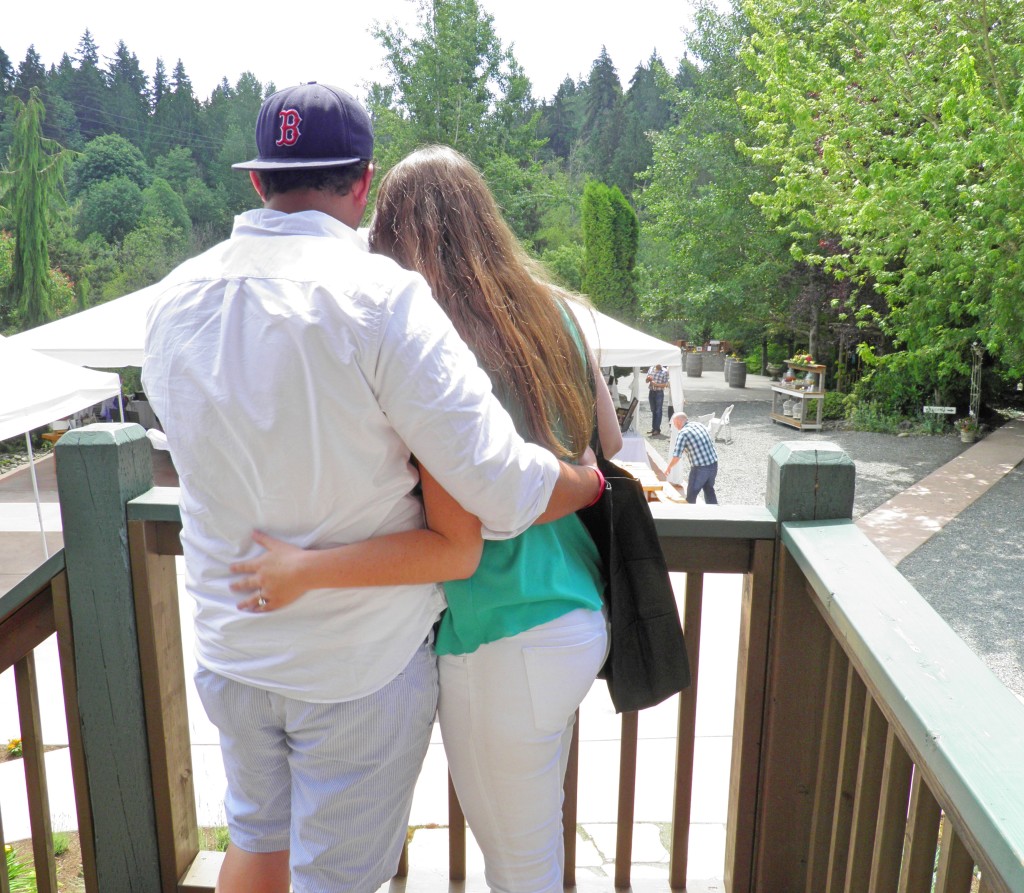
[[(662, 364), (669, 370), (669, 392), (673, 407), (683, 407), (683, 354), (668, 341), (662, 341), (625, 323), (611, 318), (600, 310), (582, 304), (572, 305), (587, 343), (597, 354), (602, 368), (626, 366), (633, 368), (631, 396), (641, 396), (643, 375), (651, 366)], [(643, 387), (646, 394), (646, 387)]]

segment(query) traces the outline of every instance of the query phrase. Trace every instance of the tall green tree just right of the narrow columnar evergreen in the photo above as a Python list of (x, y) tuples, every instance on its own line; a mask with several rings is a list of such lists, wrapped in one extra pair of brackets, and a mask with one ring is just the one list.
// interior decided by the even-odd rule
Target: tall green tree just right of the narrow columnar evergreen
[(738, 59), (749, 31), (738, 12), (697, 5), (690, 52), (699, 67), (678, 86), (663, 77), (675, 122), (653, 135), (645, 221), (645, 308), (683, 317), (687, 336), (736, 340), (787, 331), (796, 295), (787, 240), (751, 203), (773, 172), (737, 148), (750, 129), (736, 104), (758, 84)]

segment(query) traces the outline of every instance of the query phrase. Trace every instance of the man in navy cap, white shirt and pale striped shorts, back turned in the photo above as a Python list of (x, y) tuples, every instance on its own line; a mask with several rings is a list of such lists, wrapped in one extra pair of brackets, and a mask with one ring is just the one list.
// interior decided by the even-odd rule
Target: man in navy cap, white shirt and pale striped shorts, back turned
[[(347, 93), (270, 96), (248, 170), (264, 207), (174, 270), (142, 380), (181, 484), (197, 686), (218, 726), (220, 893), (372, 893), (395, 871), (430, 738), (436, 586), (238, 608), (254, 529), (303, 547), (423, 525), (412, 456), (484, 536), (593, 501), (600, 475), (526, 444), (423, 280), (356, 233), (373, 130)], [(550, 501), (549, 501), (549, 496)], [(291, 866), (289, 864), (291, 859)]]

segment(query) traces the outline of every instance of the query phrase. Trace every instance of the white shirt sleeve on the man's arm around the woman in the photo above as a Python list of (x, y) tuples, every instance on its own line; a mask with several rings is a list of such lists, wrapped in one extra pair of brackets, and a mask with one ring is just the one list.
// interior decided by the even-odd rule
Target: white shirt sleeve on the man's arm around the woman
[(527, 443), (426, 283), (411, 277), (383, 321), (375, 387), (410, 451), (486, 539), (507, 539), (544, 511), (558, 460)]

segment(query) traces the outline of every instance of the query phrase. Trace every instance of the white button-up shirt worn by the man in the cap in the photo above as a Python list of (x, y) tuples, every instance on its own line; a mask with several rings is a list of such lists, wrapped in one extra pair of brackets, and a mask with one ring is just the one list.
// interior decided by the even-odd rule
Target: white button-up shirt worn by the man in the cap
[(556, 460), (515, 433), (422, 278), (332, 217), (250, 211), (163, 285), (142, 381), (179, 475), (200, 664), (310, 701), (376, 691), (439, 615), (440, 587), (240, 611), (228, 565), (258, 553), (252, 531), (327, 547), (422, 527), (412, 453), (508, 537), (544, 510)]

